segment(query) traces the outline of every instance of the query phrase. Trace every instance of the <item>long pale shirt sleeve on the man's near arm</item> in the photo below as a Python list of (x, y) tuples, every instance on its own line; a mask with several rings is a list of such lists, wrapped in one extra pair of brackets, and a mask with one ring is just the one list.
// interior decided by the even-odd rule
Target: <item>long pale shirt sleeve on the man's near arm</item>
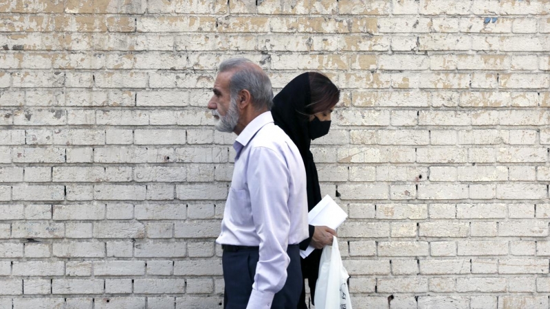
[(287, 281), (290, 218), (289, 170), (282, 155), (270, 148), (253, 148), (248, 160), (252, 220), (260, 238), (259, 261), (248, 309), (269, 309), (275, 293)]

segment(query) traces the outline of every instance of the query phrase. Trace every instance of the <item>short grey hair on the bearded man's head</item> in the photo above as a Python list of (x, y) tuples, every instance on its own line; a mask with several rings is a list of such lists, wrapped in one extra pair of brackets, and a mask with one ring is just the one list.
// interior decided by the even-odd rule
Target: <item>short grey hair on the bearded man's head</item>
[(271, 80), (262, 69), (256, 69), (254, 62), (247, 58), (231, 58), (221, 62), (218, 73), (235, 70), (229, 81), (231, 98), (236, 100), (239, 91), (246, 89), (252, 95), (252, 104), (256, 111), (262, 108), (271, 110), (273, 89)]

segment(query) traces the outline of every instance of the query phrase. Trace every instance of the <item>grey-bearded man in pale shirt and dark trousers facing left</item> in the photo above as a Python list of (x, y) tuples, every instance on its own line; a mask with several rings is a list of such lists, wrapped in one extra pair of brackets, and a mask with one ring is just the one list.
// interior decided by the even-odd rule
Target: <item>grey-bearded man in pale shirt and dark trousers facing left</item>
[(300, 152), (273, 122), (271, 82), (259, 66), (244, 58), (223, 61), (212, 91), (215, 128), (238, 135), (216, 240), (223, 248), (224, 308), (296, 308), (298, 244), (309, 233)]

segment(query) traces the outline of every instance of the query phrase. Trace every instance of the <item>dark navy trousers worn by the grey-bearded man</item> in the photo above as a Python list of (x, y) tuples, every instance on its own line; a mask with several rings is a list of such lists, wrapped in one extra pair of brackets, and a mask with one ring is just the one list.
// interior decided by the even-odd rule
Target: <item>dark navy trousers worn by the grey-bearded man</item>
[[(290, 258), (287, 281), (285, 286), (275, 294), (272, 309), (296, 309), (298, 306), (298, 297), (303, 285), (300, 248), (297, 244), (289, 245), (287, 254)], [(259, 258), (258, 250), (223, 251), (221, 258), (225, 281), (223, 309), (246, 308), (252, 294), (252, 284), (254, 284)]]

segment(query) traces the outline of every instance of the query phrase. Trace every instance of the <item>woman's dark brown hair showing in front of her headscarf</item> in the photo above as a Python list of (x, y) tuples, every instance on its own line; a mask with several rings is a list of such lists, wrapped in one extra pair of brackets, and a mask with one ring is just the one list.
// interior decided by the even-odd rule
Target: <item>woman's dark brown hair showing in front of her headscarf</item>
[(311, 103), (305, 106), (308, 115), (328, 111), (340, 100), (340, 90), (327, 76), (318, 72), (309, 72)]

